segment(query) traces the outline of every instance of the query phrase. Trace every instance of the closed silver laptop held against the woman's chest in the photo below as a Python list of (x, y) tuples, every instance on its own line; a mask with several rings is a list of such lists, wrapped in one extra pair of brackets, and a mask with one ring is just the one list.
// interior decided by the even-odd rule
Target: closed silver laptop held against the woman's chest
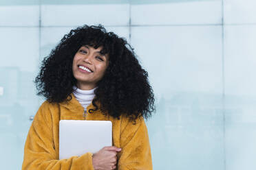
[(93, 154), (112, 145), (111, 121), (61, 120), (59, 122), (59, 159)]

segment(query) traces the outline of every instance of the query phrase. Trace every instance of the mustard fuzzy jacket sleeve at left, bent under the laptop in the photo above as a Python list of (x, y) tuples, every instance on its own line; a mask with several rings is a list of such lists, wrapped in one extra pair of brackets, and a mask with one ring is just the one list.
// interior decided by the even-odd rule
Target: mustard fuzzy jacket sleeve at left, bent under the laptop
[(22, 170), (94, 169), (92, 154), (89, 152), (82, 156), (58, 160), (58, 151), (54, 148), (52, 114), (49, 105), (47, 102), (42, 104), (30, 126), (24, 147)]

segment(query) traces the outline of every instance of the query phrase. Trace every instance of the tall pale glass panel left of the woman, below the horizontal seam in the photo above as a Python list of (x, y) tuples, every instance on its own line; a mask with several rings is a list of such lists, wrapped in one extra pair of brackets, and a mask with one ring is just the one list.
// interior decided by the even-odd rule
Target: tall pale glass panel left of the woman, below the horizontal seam
[(23, 146), (39, 107), (33, 79), (39, 58), (39, 29), (0, 28), (1, 169), (21, 169)]

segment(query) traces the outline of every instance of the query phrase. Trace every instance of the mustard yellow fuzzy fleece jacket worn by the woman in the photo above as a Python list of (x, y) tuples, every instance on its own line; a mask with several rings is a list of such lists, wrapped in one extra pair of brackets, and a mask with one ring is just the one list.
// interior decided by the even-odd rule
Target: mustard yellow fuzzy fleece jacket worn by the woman
[[(92, 104), (87, 110), (94, 108)], [(58, 123), (60, 120), (97, 120), (112, 122), (113, 145), (122, 148), (118, 153), (117, 169), (152, 169), (151, 149), (147, 126), (143, 118), (136, 124), (126, 116), (114, 119), (103, 115), (100, 110), (84, 114), (83, 106), (72, 94), (72, 100), (60, 104), (45, 101), (34, 116), (24, 147), (22, 170), (72, 169), (91, 170), (92, 153), (58, 158)]]

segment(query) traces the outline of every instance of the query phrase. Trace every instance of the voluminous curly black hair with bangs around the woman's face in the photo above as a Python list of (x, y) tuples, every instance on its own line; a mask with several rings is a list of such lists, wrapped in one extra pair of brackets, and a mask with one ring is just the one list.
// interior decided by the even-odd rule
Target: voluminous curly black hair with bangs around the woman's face
[(72, 29), (69, 34), (43, 59), (41, 70), (34, 82), (37, 95), (50, 102), (63, 102), (72, 99), (76, 79), (72, 73), (74, 55), (83, 45), (97, 49), (103, 47), (102, 54), (109, 55), (109, 65), (103, 78), (97, 82), (93, 110), (99, 107), (103, 114), (119, 119), (126, 114), (130, 120), (138, 117), (148, 119), (154, 112), (154, 95), (149, 84), (148, 73), (140, 66), (134, 49), (125, 38), (107, 32), (103, 25), (83, 25)]

